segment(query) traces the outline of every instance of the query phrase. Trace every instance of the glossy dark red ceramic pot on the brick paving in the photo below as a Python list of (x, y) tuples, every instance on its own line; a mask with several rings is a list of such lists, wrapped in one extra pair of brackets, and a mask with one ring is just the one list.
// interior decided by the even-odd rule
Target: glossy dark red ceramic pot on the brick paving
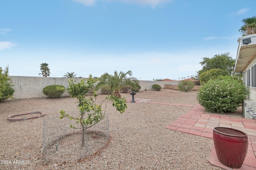
[(218, 160), (230, 168), (240, 168), (248, 150), (248, 135), (228, 127), (214, 127), (212, 137)]

